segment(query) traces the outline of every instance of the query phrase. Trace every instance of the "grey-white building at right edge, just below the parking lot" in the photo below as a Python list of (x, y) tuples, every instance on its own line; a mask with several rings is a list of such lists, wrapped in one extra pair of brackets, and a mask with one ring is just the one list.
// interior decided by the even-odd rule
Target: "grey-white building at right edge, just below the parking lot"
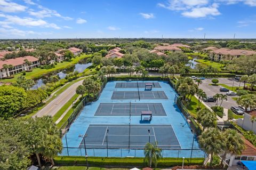
[(246, 131), (252, 131), (256, 134), (256, 121), (252, 122), (252, 116), (256, 116), (256, 110), (248, 111), (244, 113), (243, 119), (237, 119), (236, 124)]

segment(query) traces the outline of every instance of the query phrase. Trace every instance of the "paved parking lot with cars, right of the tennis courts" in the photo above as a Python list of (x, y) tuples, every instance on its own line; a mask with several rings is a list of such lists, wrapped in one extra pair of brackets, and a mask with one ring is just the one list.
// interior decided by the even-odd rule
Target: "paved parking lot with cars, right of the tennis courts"
[[(239, 83), (237, 80), (234, 80), (233, 78), (218, 78), (219, 80), (219, 84), (226, 84), (228, 86), (233, 86), (233, 82), (234, 82), (234, 87), (238, 87)], [(207, 96), (214, 96), (215, 94), (219, 93), (219, 94), (226, 94), (226, 92), (220, 92), (220, 87), (221, 86), (212, 86), (209, 84), (212, 84), (212, 79), (205, 79), (202, 80), (202, 84), (199, 85), (199, 88), (201, 88)], [(241, 83), (241, 86), (243, 86), (243, 83)], [(231, 106), (238, 106), (238, 104), (236, 103), (235, 100), (231, 99), (237, 97), (237, 95), (232, 95), (232, 96), (228, 96), (228, 100), (225, 101), (223, 100), (221, 106), (223, 108), (226, 109), (230, 109)], [(210, 107), (215, 106), (216, 102), (206, 102)], [(220, 101), (218, 103), (218, 105), (220, 104)]]

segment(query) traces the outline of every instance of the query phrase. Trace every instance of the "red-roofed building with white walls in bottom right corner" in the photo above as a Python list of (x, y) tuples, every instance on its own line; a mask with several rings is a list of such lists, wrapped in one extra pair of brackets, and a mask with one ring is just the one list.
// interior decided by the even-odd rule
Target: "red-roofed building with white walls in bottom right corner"
[(226, 161), (229, 163), (229, 166), (237, 165), (237, 162), (240, 160), (256, 160), (256, 147), (244, 139), (245, 149), (242, 151), (241, 155), (227, 155)]

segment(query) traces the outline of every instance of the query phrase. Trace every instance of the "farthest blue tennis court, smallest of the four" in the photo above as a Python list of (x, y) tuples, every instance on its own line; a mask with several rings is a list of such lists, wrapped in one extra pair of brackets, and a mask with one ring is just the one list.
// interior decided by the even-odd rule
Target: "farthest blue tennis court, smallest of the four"
[(125, 83), (116, 83), (115, 88), (145, 88), (146, 84), (152, 84), (153, 88), (161, 88), (161, 85), (158, 82), (125, 82)]

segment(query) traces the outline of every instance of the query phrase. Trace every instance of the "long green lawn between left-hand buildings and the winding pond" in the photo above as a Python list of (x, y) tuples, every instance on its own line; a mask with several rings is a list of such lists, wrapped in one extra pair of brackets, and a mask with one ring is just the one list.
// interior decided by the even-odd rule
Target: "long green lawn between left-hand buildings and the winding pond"
[[(91, 55), (82, 54), (80, 56), (76, 56), (76, 58), (71, 59), (71, 61), (59, 62), (59, 63), (57, 63), (57, 65), (55, 65), (54, 68), (51, 68), (51, 69), (35, 68), (31, 72), (26, 72), (26, 78), (34, 79), (34, 78), (38, 78), (38, 77), (40, 77), (44, 74), (47, 74), (49, 72), (52, 72), (52, 71), (69, 68), (69, 67), (73, 66), (74, 64), (76, 64), (78, 61), (80, 61), (82, 59), (85, 59), (85, 58), (88, 58), (90, 56)], [(1, 82), (13, 83), (17, 80), (17, 77), (19, 77), (19, 76), (22, 76), (22, 73), (14, 75), (14, 78), (11, 78), (11, 79), (2, 79)]]

